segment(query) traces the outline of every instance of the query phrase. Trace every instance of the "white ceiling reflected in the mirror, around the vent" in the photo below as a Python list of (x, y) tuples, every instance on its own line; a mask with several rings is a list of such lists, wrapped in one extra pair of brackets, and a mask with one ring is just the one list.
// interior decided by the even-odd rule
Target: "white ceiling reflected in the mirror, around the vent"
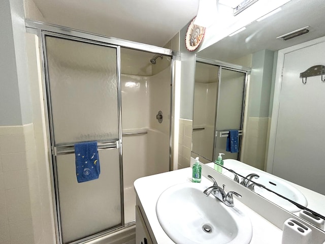
[[(291, 0), (281, 11), (246, 26), (245, 31), (226, 37), (197, 55), (232, 63), (234, 59), (259, 50), (280, 50), (325, 36), (325, 1)], [(309, 25), (310, 32), (287, 41), (276, 39)]]

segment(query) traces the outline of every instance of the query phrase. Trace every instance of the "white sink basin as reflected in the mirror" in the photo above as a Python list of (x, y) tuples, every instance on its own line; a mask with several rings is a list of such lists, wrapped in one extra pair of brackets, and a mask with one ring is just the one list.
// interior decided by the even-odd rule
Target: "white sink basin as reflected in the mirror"
[[(272, 174), (263, 172), (263, 171), (254, 171), (250, 169), (236, 169), (238, 174), (247, 176), (248, 174), (255, 173), (259, 175), (259, 178), (252, 178), (252, 180), (258, 184), (262, 184), (266, 188), (294, 201), (299, 203), (302, 206), (307, 206), (307, 199), (297, 188), (293, 185), (288, 184), (285, 180), (274, 176)], [(241, 177), (239, 177), (241, 180)], [(254, 192), (262, 197), (268, 199), (269, 201), (279, 205), (280, 207), (290, 211), (290, 212), (298, 212), (301, 209), (290, 203), (289, 201), (275, 195), (272, 192), (267, 191), (266, 189), (259, 188), (257, 186), (254, 187)]]

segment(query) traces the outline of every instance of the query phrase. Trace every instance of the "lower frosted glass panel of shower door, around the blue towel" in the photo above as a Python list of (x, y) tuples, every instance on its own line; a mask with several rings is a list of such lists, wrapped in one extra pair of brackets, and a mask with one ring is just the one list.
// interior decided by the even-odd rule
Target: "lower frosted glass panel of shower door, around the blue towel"
[(99, 151), (98, 179), (77, 182), (75, 155), (56, 157), (62, 243), (121, 225), (118, 149)]

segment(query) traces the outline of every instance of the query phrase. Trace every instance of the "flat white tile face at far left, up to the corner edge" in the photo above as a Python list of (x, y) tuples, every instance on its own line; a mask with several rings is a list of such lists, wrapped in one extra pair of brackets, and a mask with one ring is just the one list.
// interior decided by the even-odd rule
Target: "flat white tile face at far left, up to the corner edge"
[[(27, 128), (30, 136), (32, 130)], [(30, 126), (32, 129), (32, 125)], [(35, 243), (24, 126), (0, 127), (0, 243)], [(35, 145), (35, 144), (34, 144)]]

